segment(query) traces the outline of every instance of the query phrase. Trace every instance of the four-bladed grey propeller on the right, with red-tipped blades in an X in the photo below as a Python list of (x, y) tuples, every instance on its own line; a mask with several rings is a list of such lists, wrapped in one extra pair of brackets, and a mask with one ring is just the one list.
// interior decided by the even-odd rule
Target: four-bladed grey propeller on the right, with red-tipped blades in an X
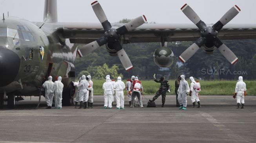
[(218, 22), (212, 27), (207, 27), (206, 24), (199, 18), (199, 16), (193, 11), (193, 9), (185, 4), (181, 8), (182, 12), (189, 18), (201, 31), (201, 37), (196, 40), (189, 48), (187, 48), (180, 56), (179, 59), (185, 63), (192, 55), (203, 45), (206, 47), (215, 46), (220, 50), (221, 54), (231, 63), (238, 62), (236, 55), (220, 41), (217, 34), (229, 21), (231, 21), (241, 10), (237, 5), (234, 5), (227, 13), (225, 13)]

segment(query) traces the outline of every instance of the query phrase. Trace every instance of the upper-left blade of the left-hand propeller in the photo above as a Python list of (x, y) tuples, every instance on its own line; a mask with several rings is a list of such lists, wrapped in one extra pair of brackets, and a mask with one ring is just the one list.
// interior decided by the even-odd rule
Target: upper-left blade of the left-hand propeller
[(100, 6), (100, 3), (98, 1), (95, 1), (91, 5), (93, 7), (93, 11), (96, 14), (98, 20), (100, 20), (100, 23), (102, 24), (103, 29), (105, 31), (111, 29), (112, 26), (107, 20), (107, 16), (105, 15), (102, 7)]

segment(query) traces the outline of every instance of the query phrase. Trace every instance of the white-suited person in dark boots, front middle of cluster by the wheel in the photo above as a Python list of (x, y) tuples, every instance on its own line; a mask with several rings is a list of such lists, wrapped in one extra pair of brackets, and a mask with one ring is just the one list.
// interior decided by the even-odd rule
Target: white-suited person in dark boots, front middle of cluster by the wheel
[[(88, 96), (87, 96), (87, 88), (88, 88), (88, 81), (86, 80), (86, 76), (82, 75), (82, 80), (78, 84), (79, 89), (79, 101), (80, 101), (80, 107), (79, 109), (82, 109), (83, 107), (83, 101), (84, 104), (87, 104)], [(86, 102), (85, 102), (86, 101)], [(87, 105), (84, 105), (84, 108), (87, 108)]]

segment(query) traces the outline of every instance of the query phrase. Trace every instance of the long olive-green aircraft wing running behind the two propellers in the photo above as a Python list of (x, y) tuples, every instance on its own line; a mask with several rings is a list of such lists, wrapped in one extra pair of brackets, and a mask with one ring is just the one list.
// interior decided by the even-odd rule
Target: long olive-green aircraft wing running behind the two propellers
[[(111, 25), (121, 27), (124, 23)], [(55, 23), (54, 29), (71, 43), (90, 43), (104, 34), (101, 23)], [(122, 39), (123, 43), (160, 42), (162, 35), (167, 41), (195, 41), (200, 37), (200, 30), (194, 24), (145, 23), (124, 34)], [(218, 37), (223, 40), (256, 39), (256, 24), (227, 24), (218, 32)]]

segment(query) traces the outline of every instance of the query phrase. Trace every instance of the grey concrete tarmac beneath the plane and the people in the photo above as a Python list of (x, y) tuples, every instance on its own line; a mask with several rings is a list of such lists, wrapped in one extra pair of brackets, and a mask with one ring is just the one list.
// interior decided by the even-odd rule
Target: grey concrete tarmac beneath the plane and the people
[[(153, 95), (145, 96), (152, 99)], [(103, 96), (94, 95), (93, 109), (45, 109), (42, 97), (26, 97), (16, 109), (0, 111), (0, 143), (256, 143), (256, 97), (245, 97), (236, 109), (232, 95), (201, 95), (201, 108), (176, 107), (176, 96), (156, 100), (157, 107), (103, 109)], [(114, 103), (114, 105), (116, 105)], [(24, 109), (26, 108), (26, 109)], [(30, 110), (32, 109), (32, 110)]]

